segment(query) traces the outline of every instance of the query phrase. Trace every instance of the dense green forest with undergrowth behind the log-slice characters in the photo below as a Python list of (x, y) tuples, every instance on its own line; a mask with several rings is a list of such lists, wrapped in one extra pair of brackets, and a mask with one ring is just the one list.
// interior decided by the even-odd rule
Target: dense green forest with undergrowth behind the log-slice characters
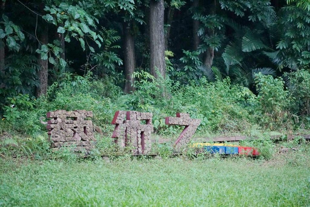
[(0, 132), (46, 133), (48, 110), (201, 119), (201, 135), (305, 130), (310, 3), (279, 0), (2, 0)]

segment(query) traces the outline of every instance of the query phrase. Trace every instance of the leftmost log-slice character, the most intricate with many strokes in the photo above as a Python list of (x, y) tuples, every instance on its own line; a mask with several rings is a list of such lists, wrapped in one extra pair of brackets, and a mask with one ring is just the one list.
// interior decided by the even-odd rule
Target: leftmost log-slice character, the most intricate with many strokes
[(58, 150), (59, 147), (74, 146), (75, 152), (89, 154), (95, 140), (91, 120), (84, 120), (92, 117), (92, 111), (57, 110), (47, 113), (47, 129), (51, 147)]

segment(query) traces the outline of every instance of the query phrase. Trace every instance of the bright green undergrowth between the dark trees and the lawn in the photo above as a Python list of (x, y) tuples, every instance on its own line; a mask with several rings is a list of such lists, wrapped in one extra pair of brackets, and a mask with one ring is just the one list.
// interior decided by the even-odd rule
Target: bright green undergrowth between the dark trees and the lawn
[[(229, 78), (215, 82), (201, 78), (181, 85), (170, 79), (154, 79), (145, 71), (135, 72), (133, 76), (135, 91), (132, 94), (123, 94), (108, 77), (99, 79), (89, 73), (85, 77), (63, 74), (62, 79), (49, 87), (47, 95), (38, 99), (22, 94), (8, 98), (0, 121), (0, 153), (42, 159), (50, 152), (47, 131), (41, 122), (46, 121), (48, 111), (60, 109), (93, 111), (95, 154), (115, 151), (110, 138), (114, 126), (110, 123), (117, 110), (152, 112), (155, 139), (177, 137), (181, 128), (166, 125), (164, 118), (175, 116), (176, 112), (189, 113), (191, 118), (201, 119), (196, 137), (229, 134), (260, 137), (260, 141), (251, 145), (262, 151), (264, 146), (269, 146), (269, 150), (262, 153), (265, 158), (272, 155), (272, 145), (265, 141), (270, 136), (285, 138), (288, 131), (309, 127), (310, 99), (306, 91), (310, 73), (307, 70), (290, 73), (287, 87), (283, 79), (259, 73), (255, 76), (257, 94), (231, 85)], [(158, 153), (166, 148), (169, 147), (154, 146), (154, 151)]]

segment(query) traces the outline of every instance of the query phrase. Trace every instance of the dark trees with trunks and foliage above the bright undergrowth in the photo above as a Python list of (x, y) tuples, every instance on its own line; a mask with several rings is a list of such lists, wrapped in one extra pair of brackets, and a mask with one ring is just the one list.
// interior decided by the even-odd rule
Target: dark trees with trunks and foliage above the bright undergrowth
[[(255, 74), (283, 77), (310, 63), (308, 0), (2, 0), (0, 103), (34, 99), (66, 73), (135, 90), (135, 71), (188, 84)], [(286, 74), (286, 76), (285, 76)], [(159, 86), (160, 87), (160, 86)]]

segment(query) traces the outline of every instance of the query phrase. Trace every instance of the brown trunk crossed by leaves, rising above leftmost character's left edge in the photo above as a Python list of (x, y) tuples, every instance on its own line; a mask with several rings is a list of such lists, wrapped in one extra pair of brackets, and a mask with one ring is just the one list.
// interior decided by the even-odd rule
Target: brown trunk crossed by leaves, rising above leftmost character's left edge
[[(44, 22), (43, 22), (44, 24)], [(42, 44), (48, 43), (48, 27), (47, 25), (43, 25), (41, 33), (38, 35), (38, 39)], [(40, 43), (38, 43), (40, 47)], [(39, 78), (39, 86), (36, 90), (36, 96), (39, 97), (41, 95), (45, 95), (47, 93), (47, 76), (48, 76), (48, 60), (42, 60), (41, 55), (38, 55), (38, 78)]]

